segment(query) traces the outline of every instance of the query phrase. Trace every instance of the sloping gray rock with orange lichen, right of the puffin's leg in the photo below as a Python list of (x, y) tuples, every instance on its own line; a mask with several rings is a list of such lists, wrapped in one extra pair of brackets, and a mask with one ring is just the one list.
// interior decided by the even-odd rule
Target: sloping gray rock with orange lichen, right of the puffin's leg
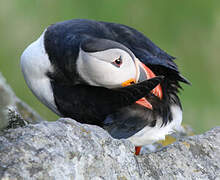
[(137, 157), (146, 179), (220, 179), (220, 127)]

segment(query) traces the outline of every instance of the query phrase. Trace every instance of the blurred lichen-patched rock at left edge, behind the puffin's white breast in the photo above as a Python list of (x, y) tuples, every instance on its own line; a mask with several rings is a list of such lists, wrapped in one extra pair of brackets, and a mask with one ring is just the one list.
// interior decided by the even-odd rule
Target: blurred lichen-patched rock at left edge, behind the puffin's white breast
[(19, 113), (29, 123), (42, 121), (36, 112), (15, 96), (0, 73), (0, 130), (6, 128), (13, 119), (11, 112)]

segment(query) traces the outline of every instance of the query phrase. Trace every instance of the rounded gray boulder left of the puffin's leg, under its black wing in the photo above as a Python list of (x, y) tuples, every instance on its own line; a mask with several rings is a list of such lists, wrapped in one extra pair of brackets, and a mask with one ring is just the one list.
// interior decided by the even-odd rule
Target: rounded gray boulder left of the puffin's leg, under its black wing
[(0, 137), (0, 176), (9, 179), (137, 179), (128, 141), (71, 119), (11, 129)]

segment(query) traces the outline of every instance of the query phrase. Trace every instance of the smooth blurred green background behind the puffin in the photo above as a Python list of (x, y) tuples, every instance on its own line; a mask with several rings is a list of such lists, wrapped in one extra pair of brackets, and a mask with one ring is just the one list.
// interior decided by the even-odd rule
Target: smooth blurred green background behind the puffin
[(220, 125), (219, 0), (1, 0), (0, 71), (17, 96), (48, 120), (57, 116), (27, 88), (19, 58), (48, 25), (73, 18), (117, 22), (143, 32), (177, 57), (192, 82), (180, 94), (184, 124), (196, 133)]

